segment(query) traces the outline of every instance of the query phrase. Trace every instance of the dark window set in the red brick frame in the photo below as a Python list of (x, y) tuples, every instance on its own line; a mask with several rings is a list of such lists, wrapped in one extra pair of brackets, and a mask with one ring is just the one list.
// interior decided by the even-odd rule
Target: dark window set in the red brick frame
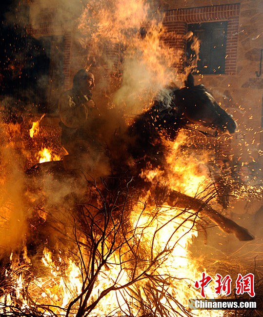
[[(227, 21), (188, 24), (188, 31), (192, 31), (201, 40), (197, 71), (201, 74), (224, 74), (226, 56)], [(190, 43), (186, 46), (186, 56), (194, 57)]]

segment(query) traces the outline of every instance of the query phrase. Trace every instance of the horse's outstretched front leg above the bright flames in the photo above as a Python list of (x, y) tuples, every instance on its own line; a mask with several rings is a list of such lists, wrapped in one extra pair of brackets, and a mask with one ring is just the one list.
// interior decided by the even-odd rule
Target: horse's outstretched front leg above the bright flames
[(167, 203), (170, 206), (187, 208), (192, 209), (195, 212), (200, 212), (203, 216), (206, 216), (212, 222), (217, 224), (223, 232), (234, 234), (241, 241), (254, 239), (247, 229), (239, 226), (233, 220), (224, 217), (201, 199), (193, 198), (170, 189), (167, 195)]

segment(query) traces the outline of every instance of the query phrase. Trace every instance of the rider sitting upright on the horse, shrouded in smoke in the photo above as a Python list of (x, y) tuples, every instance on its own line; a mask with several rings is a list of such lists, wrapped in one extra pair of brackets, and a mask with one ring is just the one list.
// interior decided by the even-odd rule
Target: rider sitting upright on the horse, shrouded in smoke
[(81, 69), (74, 76), (72, 89), (62, 93), (59, 99), (61, 144), (69, 154), (63, 159), (66, 169), (84, 162), (92, 167), (99, 157), (100, 112), (92, 99), (94, 86), (94, 75)]

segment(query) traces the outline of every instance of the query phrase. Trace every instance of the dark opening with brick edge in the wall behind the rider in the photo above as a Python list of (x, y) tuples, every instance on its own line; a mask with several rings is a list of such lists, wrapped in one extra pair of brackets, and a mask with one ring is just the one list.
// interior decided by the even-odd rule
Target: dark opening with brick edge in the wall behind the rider
[(64, 37), (36, 39), (12, 25), (1, 26), (0, 37), (0, 101), (5, 119), (15, 122), (25, 110), (55, 112), (64, 84)]

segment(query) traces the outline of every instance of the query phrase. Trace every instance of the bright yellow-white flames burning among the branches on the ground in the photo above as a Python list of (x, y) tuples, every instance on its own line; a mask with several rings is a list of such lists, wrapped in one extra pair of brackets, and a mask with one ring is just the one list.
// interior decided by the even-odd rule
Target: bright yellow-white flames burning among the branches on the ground
[[(116, 312), (112, 316), (119, 316), (120, 307), (125, 314), (132, 312), (135, 315), (141, 310), (138, 303), (143, 301), (151, 305), (151, 310), (155, 311), (157, 316), (162, 316), (159, 312), (162, 305), (167, 316), (172, 317), (176, 316), (174, 309), (179, 309), (178, 303), (187, 307), (188, 298), (199, 297), (199, 291), (193, 285), (204, 269), (202, 263), (194, 259), (187, 250), (192, 239), (197, 237), (192, 217), (191, 211), (182, 213), (169, 206), (158, 210), (156, 217), (151, 208), (144, 209), (143, 204), (139, 203), (131, 217), (131, 231), (126, 236), (135, 246), (135, 250), (136, 247), (141, 248), (136, 256), (137, 267), (134, 267), (133, 260), (129, 260), (132, 254), (128, 243), (121, 247), (121, 254), (118, 250), (111, 254), (107, 265), (101, 268), (96, 278), (87, 305), (92, 305), (104, 290), (113, 286), (116, 290), (113, 289), (103, 296), (90, 315), (105, 316), (109, 312)], [(111, 241), (107, 240), (106, 244), (110, 247)], [(53, 313), (62, 315), (63, 309), (81, 294), (83, 271), (78, 261), (65, 257), (63, 260), (61, 257), (59, 260), (54, 258), (56, 257), (52, 252), (44, 248), (41, 261), (47, 270), (44, 271), (45, 276), (35, 277), (29, 283), (23, 280), (22, 274), (16, 278), (14, 287), (17, 299), (23, 303), (21, 309), (30, 309), (25, 289), (35, 305), (52, 305)], [(151, 265), (153, 259), (154, 265)], [(142, 275), (142, 279), (130, 285), (131, 275)], [(153, 293), (150, 290), (153, 290)], [(209, 288), (206, 288), (206, 294), (209, 298), (214, 296), (213, 290)], [(13, 300), (9, 295), (1, 299), (8, 301), (10, 305)], [(189, 316), (186, 311), (180, 311), (180, 314)], [(223, 312), (218, 311), (198, 311), (197, 314), (200, 317), (223, 316)]]

